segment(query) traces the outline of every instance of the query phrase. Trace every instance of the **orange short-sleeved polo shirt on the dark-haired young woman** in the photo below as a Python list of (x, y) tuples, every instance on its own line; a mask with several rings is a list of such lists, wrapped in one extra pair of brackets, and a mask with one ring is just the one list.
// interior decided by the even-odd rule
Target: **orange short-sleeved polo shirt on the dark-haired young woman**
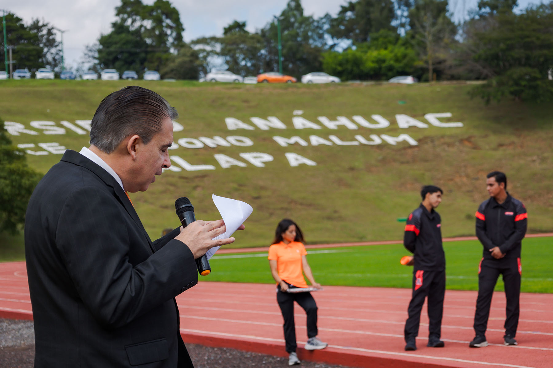
[(280, 242), (269, 247), (269, 260), (276, 260), (276, 271), (281, 279), (298, 287), (307, 287), (305, 282), (301, 256), (307, 255), (304, 244)]

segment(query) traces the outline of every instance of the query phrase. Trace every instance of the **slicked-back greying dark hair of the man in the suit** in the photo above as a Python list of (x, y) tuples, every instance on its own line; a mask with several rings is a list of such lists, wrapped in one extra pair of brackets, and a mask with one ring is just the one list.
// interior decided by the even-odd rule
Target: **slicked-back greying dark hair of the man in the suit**
[(179, 117), (175, 108), (152, 90), (129, 86), (102, 100), (90, 123), (90, 143), (112, 153), (124, 138), (138, 135), (147, 144), (161, 131), (163, 120)]

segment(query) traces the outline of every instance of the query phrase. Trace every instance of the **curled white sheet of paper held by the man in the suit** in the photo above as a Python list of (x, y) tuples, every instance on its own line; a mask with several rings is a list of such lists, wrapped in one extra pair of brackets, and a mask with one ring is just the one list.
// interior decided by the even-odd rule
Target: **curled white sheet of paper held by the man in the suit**
[[(225, 197), (220, 197), (218, 195), (212, 194), (213, 203), (219, 210), (225, 225), (227, 226), (227, 231), (222, 233), (220, 236), (213, 238), (223, 239), (229, 238), (236, 229), (246, 221), (249, 215), (252, 214), (252, 206), (248, 205), (246, 202), (238, 201), (236, 199), (230, 199)], [(221, 247), (213, 247), (207, 251), (207, 259), (210, 259), (217, 249)]]

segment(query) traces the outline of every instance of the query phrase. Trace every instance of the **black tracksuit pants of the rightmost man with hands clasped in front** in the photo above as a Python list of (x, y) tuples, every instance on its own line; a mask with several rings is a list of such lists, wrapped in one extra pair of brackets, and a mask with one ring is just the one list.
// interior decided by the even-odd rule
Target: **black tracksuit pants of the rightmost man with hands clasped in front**
[(505, 319), (504, 324), (505, 335), (515, 337), (520, 314), (521, 272), (520, 258), (481, 260), (478, 268), (478, 298), (476, 300), (476, 312), (474, 313), (474, 332), (477, 335), (486, 335), (493, 289), (501, 274), (503, 275), (505, 296), (507, 297), (507, 307), (505, 308), (507, 319)]

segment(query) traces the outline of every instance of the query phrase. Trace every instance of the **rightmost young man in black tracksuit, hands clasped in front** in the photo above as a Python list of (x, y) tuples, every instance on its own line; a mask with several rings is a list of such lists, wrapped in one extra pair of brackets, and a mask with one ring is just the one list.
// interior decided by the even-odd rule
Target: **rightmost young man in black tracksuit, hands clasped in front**
[(478, 267), (478, 298), (474, 313), (476, 337), (471, 348), (487, 346), (486, 328), (493, 289), (499, 274), (503, 275), (507, 297), (505, 319), (505, 345), (517, 345), (519, 318), (521, 241), (526, 234), (526, 208), (507, 192), (507, 177), (499, 171), (487, 175), (486, 189), (490, 198), (483, 201), (476, 211), (476, 236), (484, 247)]

